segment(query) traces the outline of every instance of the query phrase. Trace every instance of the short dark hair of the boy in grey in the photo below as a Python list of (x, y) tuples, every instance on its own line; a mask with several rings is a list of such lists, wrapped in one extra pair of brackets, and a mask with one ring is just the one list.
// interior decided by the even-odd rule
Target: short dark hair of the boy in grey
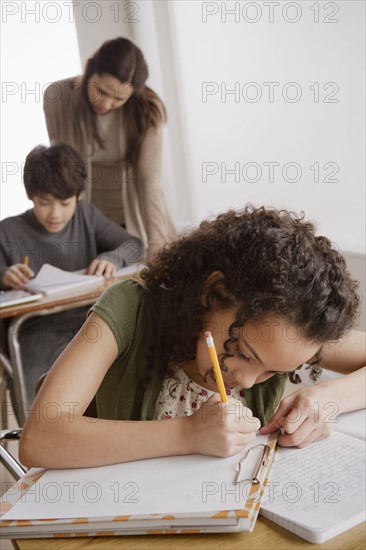
[(79, 197), (84, 189), (85, 165), (80, 155), (65, 143), (38, 145), (27, 155), (24, 186), (28, 198), (50, 194), (57, 199)]

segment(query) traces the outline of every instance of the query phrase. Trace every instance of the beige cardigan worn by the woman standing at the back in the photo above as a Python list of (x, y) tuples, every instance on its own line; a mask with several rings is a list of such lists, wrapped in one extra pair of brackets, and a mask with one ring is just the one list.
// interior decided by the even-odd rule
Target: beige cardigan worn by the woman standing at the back
[[(78, 106), (81, 96), (81, 77), (67, 78), (50, 84), (44, 93), (44, 112), (48, 135), (52, 144), (64, 142), (74, 147), (87, 166), (88, 179), (85, 198), (92, 198), (92, 152), (91, 139), (85, 135), (82, 121), (78, 117)], [(116, 110), (120, 119), (118, 128), (119, 158), (124, 158), (126, 136), (123, 128), (123, 107)], [(82, 139), (80, 139), (81, 129)], [(98, 162), (102, 159), (98, 152)], [(110, 158), (106, 152), (106, 162)], [(141, 145), (136, 170), (122, 166), (118, 170), (121, 185), (122, 205), (126, 229), (139, 237), (145, 247), (155, 248), (175, 234), (174, 226), (166, 209), (164, 196), (160, 187), (162, 158), (162, 125), (150, 128)], [(101, 205), (98, 205), (101, 206)]]

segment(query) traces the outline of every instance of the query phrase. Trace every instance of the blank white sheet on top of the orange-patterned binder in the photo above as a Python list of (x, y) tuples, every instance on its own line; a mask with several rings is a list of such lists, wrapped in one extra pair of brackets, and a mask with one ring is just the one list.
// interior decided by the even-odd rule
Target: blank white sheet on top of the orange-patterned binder
[[(108, 517), (116, 515), (215, 512), (242, 508), (250, 484), (235, 483), (238, 455), (218, 458), (189, 455), (139, 460), (98, 468), (48, 470), (13, 508), (7, 519)], [(251, 478), (256, 453), (245, 461)]]

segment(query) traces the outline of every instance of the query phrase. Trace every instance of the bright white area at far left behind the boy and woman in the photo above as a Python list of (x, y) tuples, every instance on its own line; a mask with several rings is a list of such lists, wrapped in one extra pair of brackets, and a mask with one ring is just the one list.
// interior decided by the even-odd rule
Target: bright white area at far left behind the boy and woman
[[(69, 3), (70, 4), (70, 3)], [(32, 203), (23, 186), (26, 155), (49, 143), (43, 115), (47, 84), (80, 72), (72, 6), (1, 2), (1, 219)]]

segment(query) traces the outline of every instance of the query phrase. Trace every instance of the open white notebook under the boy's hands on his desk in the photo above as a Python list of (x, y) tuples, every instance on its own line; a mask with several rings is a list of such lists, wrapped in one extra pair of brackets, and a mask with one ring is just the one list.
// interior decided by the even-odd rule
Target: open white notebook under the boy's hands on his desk
[[(141, 267), (141, 264), (124, 267), (117, 272), (116, 276), (135, 273)], [(56, 296), (73, 291), (87, 292), (104, 281), (103, 276), (85, 275), (83, 270), (64, 271), (50, 264), (44, 264), (37, 275), (29, 281), (27, 289), (47, 296)]]

